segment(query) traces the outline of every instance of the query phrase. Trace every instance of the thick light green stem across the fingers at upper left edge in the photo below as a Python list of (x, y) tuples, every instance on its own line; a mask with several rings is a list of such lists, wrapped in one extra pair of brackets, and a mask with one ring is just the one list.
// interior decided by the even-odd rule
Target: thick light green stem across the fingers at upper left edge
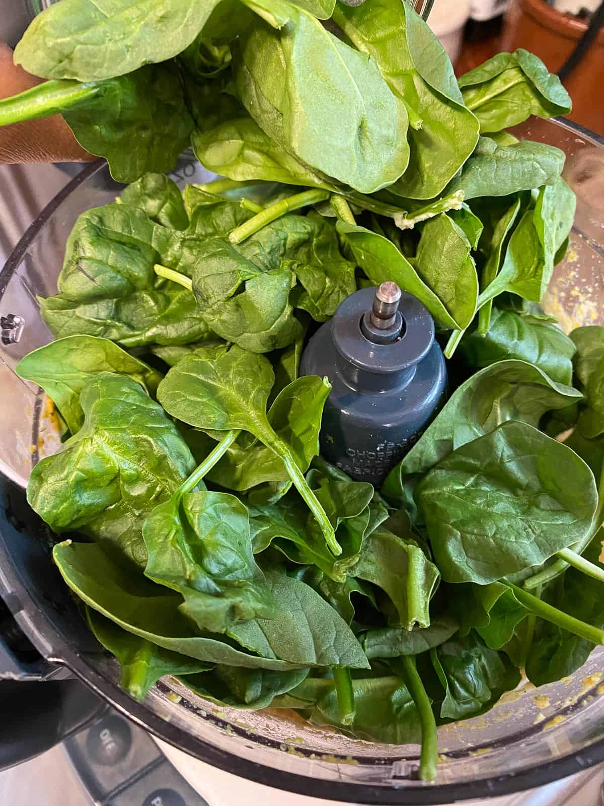
[(102, 82), (82, 84), (80, 81), (45, 81), (24, 93), (0, 100), (0, 126), (22, 120), (47, 118), (89, 101), (101, 93)]

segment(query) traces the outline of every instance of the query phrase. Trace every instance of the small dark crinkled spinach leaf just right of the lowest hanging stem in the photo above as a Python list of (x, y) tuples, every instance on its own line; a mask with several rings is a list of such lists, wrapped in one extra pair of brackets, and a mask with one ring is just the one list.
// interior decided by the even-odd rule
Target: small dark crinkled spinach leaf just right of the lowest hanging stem
[(513, 690), (520, 673), (507, 656), (491, 650), (474, 632), (430, 650), (432, 665), (445, 689), (441, 717), (466, 719), (484, 713), (503, 692)]

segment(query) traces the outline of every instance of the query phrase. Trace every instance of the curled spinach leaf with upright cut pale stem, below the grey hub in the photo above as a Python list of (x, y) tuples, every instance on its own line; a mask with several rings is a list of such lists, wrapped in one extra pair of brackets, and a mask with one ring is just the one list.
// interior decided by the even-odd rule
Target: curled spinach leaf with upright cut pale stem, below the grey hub
[(390, 619), (392, 625), (411, 630), (415, 625), (430, 625), (430, 599), (440, 580), (436, 566), (411, 537), (400, 538), (378, 526), (363, 542), (358, 563), (350, 574), (366, 580), (389, 596), (395, 606)]

